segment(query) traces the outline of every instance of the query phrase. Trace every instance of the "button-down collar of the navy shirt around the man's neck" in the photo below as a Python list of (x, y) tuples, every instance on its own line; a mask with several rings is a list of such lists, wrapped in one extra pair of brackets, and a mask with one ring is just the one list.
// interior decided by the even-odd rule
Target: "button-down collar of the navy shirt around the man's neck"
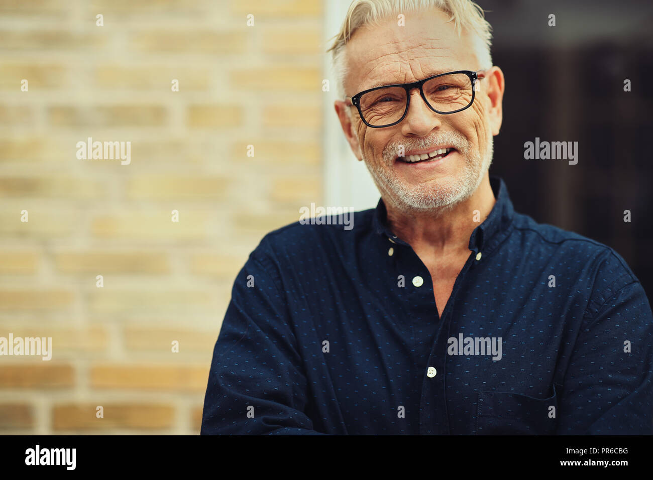
[[(488, 215), (481, 225), (471, 232), (469, 248), (474, 253), (478, 253), (479, 251), (490, 253), (491, 250), (496, 248), (503, 238), (505, 238), (513, 221), (513, 216), (515, 215), (513, 202), (510, 200), (503, 178), (490, 175), (490, 187), (492, 188), (496, 202), (490, 211), (490, 215)], [(387, 223), (387, 210), (385, 209), (383, 199), (379, 199), (379, 203), (374, 210), (372, 227), (377, 234), (387, 236), (390, 242), (408, 246), (406, 242), (390, 231)]]

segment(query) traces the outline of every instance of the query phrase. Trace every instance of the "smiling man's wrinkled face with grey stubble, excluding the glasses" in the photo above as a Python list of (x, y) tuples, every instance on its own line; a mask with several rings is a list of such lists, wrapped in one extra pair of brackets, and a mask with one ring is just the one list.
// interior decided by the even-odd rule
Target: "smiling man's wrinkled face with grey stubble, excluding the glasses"
[[(403, 84), (439, 73), (470, 70), (481, 65), (468, 33), (454, 32), (453, 22), (439, 10), (406, 14), (406, 26), (390, 18), (379, 27), (358, 29), (347, 44), (349, 75), (345, 92), (355, 95), (374, 86)], [(432, 210), (453, 205), (473, 193), (492, 161), (492, 135), (501, 125), (503, 75), (498, 67), (486, 72), (473, 104), (466, 110), (443, 115), (430, 110), (419, 89), (409, 95), (406, 118), (397, 125), (370, 128), (355, 107), (336, 102), (347, 133), (343, 108), (351, 108), (353, 134), (347, 135), (354, 152), (364, 160), (382, 195), (402, 210)], [(346, 124), (346, 125), (345, 125)], [(398, 157), (453, 148), (445, 157), (407, 163)]]

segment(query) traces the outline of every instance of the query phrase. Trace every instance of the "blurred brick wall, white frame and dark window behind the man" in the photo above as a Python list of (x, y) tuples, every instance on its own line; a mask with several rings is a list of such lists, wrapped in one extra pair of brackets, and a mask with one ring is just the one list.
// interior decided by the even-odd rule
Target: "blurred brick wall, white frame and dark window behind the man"
[[(518, 212), (615, 248), (650, 294), (653, 7), (479, 4), (506, 77), (490, 173)], [(379, 198), (333, 108), (325, 50), (348, 6), (0, 0), (0, 336), (53, 344), (50, 361), (0, 357), (0, 433), (199, 434), (249, 252), (311, 202)], [(579, 142), (579, 163), (525, 160), (537, 136)], [(78, 159), (89, 137), (131, 142), (131, 163)]]

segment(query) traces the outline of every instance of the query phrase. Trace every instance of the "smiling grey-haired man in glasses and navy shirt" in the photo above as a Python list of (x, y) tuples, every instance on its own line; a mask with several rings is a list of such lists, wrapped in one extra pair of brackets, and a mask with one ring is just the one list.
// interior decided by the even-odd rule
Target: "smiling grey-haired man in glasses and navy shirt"
[(353, 229), (298, 222), (251, 253), (202, 434), (652, 432), (641, 284), (488, 176), (505, 86), (489, 44), (468, 0), (353, 2), (335, 109), (381, 200)]

